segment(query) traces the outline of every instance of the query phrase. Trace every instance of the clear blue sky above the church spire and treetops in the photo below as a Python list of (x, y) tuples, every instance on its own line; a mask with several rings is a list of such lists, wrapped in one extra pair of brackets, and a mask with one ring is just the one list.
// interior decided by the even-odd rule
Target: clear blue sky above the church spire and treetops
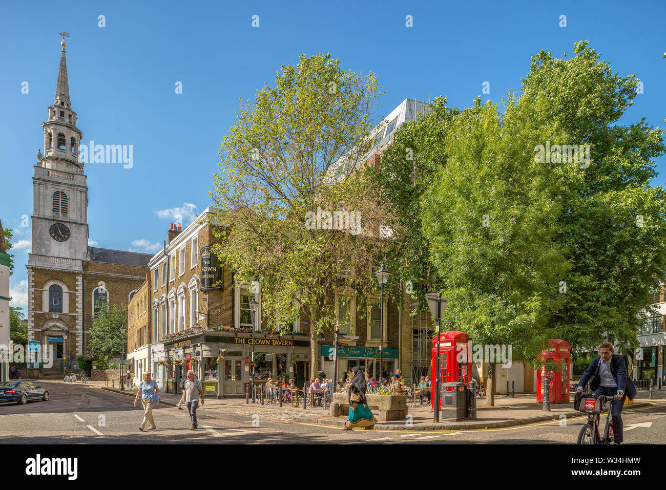
[[(33, 165), (53, 103), (63, 27), (72, 108), (83, 142), (133, 144), (133, 168), (87, 164), (90, 239), (105, 248), (155, 252), (170, 222), (210, 205), (220, 142), (238, 99), (272, 83), (301, 53), (331, 53), (343, 69), (374, 71), (386, 91), (379, 116), (403, 99), (448, 96), (468, 107), (482, 85), (499, 101), (519, 90), (531, 55), (560, 57), (588, 39), (644, 93), (621, 122), (663, 126), (666, 3), (68, 1), (3, 5), (0, 77), (3, 146), (0, 218), (15, 232), (13, 306), (27, 303)], [(105, 27), (99, 27), (99, 16)], [(252, 15), (259, 27), (252, 27)], [(412, 15), (413, 26), (406, 27)], [(566, 27), (559, 27), (566, 15)], [(21, 84), (29, 83), (29, 93)], [(182, 94), (174, 84), (182, 83)], [(666, 158), (657, 161), (663, 185)], [(28, 224), (29, 225), (29, 224)]]

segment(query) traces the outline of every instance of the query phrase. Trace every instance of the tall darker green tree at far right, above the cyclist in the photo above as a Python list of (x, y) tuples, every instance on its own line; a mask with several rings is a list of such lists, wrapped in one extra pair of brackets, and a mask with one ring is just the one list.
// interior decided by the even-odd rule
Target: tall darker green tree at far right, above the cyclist
[(617, 124), (633, 105), (638, 80), (613, 74), (587, 41), (574, 52), (556, 59), (541, 51), (522, 83), (525, 101), (549, 109), (535, 119), (556, 122), (569, 144), (590, 145), (584, 178), (562, 197), (557, 240), (573, 267), (561, 277), (566, 301), (553, 326), (573, 346), (595, 350), (608, 334), (633, 348), (637, 317), (666, 276), (666, 196), (650, 186), (664, 130), (644, 119)]

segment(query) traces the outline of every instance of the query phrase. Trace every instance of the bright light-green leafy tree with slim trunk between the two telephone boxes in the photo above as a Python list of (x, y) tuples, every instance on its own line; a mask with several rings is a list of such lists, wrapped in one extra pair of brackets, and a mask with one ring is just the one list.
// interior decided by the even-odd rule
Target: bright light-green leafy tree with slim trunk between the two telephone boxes
[[(449, 300), (444, 330), (468, 332), (477, 344), (505, 344), (513, 359), (533, 361), (551, 332), (549, 296), (569, 268), (554, 240), (559, 201), (574, 170), (560, 174), (535, 161), (552, 126), (534, 124), (541, 108), (504, 101), (504, 111), (480, 104), (452, 123), (448, 160), (424, 195), (424, 234)], [(494, 404), (495, 364), (489, 364), (487, 402)]]

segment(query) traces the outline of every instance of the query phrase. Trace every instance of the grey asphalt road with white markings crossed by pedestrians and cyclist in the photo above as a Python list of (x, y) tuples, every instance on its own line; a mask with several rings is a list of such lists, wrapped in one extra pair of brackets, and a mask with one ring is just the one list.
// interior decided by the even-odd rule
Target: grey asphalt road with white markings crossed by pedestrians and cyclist
[[(0, 443), (66, 444), (575, 444), (585, 417), (519, 427), (476, 431), (342, 431), (338, 427), (288, 423), (290, 411), (276, 407), (221, 406), (198, 411), (197, 431), (189, 430), (186, 410), (158, 405), (157, 429), (139, 431), (141, 403), (133, 397), (85, 385), (41, 383), (49, 401), (27, 405), (0, 403)], [(663, 444), (666, 405), (623, 412), (625, 443)]]

